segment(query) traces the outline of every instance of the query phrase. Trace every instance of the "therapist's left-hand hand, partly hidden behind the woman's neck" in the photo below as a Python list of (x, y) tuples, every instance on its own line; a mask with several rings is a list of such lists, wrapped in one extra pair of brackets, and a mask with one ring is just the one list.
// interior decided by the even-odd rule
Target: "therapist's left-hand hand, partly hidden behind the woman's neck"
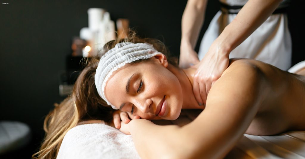
[(194, 51), (191, 45), (181, 42), (179, 67), (188, 68), (192, 65), (198, 64), (199, 59), (197, 53)]

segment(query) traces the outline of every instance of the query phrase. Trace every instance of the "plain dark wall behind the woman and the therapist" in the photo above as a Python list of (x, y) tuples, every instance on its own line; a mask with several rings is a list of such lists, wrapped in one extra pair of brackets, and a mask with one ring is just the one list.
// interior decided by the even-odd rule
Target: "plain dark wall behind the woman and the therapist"
[[(59, 72), (65, 69), (66, 55), (71, 53), (71, 38), (88, 27), (88, 8), (104, 8), (114, 21), (129, 19), (138, 35), (163, 41), (178, 57), (181, 16), (187, 0), (0, 2), (0, 121), (21, 121), (30, 126), (30, 145), (9, 154), (10, 158), (16, 154), (30, 158), (44, 136), (45, 115), (55, 102), (63, 100), (59, 96)], [(302, 6), (303, 0), (292, 0), (288, 11), (293, 64), (305, 60)], [(199, 39), (218, 10), (218, 1), (208, 2)]]

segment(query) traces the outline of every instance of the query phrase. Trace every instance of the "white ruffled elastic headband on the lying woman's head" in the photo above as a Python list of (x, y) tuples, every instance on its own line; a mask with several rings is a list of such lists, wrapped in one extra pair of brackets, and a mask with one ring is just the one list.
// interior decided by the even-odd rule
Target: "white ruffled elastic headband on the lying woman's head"
[(107, 51), (101, 57), (99, 65), (96, 69), (95, 86), (99, 96), (101, 96), (108, 105), (111, 105), (113, 109), (117, 109), (106, 99), (104, 92), (106, 83), (113, 71), (116, 71), (127, 63), (131, 63), (139, 59), (148, 59), (157, 54), (162, 53), (158, 52), (152, 46), (152, 44), (149, 43), (117, 43), (114, 48)]

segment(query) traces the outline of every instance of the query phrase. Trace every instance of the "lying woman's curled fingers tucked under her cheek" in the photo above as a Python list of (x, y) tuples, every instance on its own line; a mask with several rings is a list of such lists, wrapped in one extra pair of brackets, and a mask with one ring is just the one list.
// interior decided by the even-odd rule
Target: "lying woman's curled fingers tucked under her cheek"
[(120, 110), (113, 112), (113, 123), (117, 129), (120, 129), (120, 127), (122, 125), (121, 123), (128, 124), (130, 122), (129, 118), (130, 119), (140, 119), (140, 116), (137, 116), (137, 115), (132, 116), (130, 112), (123, 112)]

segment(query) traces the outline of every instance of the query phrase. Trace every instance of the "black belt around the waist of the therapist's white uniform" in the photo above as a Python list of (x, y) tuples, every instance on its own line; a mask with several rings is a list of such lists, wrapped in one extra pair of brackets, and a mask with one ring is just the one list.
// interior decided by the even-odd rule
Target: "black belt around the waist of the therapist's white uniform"
[[(275, 11), (272, 14), (287, 13), (288, 6), (289, 5), (279, 7), (277, 9), (275, 9)], [(224, 14), (237, 14), (239, 12), (239, 10), (242, 9), (242, 7), (243, 7), (243, 5), (227, 5), (225, 3), (220, 2), (221, 11)], [(237, 9), (239, 9), (239, 10), (237, 10)], [(231, 11), (231, 10), (237, 10), (237, 11)]]

